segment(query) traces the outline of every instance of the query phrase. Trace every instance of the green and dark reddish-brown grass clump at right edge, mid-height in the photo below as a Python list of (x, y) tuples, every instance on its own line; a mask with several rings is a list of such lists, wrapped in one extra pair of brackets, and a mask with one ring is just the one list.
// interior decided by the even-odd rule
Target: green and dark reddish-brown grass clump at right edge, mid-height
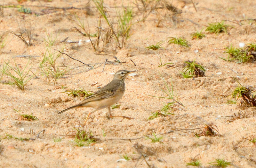
[(238, 86), (235, 88), (231, 94), (235, 102), (240, 99), (239, 106), (244, 107), (256, 107), (256, 89), (252, 87), (243, 87), (239, 82)]

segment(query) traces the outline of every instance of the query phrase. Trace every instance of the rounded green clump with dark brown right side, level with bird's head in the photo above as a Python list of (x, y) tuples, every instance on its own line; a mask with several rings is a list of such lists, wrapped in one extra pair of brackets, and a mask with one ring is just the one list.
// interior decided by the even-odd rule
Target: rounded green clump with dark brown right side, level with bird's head
[[(203, 77), (205, 69), (203, 66), (199, 65), (198, 63), (194, 61), (184, 61), (185, 64), (187, 64), (186, 67), (183, 68), (181, 75), (183, 78), (192, 78), (192, 77)], [(185, 70), (185, 71), (184, 71)]]

